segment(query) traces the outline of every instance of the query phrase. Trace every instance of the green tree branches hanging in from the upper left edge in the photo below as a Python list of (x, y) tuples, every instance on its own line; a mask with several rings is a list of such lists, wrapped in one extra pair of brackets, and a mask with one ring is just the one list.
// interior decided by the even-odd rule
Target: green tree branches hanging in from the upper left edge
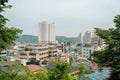
[(0, 0), (0, 52), (6, 49), (9, 45), (13, 44), (22, 30), (11, 27), (6, 27), (8, 21), (2, 13), (6, 8), (11, 8), (11, 5), (6, 5), (8, 0)]

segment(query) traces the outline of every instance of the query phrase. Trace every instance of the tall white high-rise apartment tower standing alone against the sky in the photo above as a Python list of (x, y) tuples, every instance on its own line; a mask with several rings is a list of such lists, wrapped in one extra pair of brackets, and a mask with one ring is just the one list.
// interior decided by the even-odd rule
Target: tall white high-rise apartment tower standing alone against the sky
[(39, 43), (55, 43), (55, 24), (46, 21), (39, 23)]

